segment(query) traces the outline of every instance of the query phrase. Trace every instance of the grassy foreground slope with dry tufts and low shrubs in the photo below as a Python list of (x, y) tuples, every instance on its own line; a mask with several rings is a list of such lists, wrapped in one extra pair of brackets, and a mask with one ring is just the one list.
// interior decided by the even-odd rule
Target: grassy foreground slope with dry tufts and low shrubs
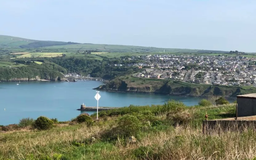
[[(3, 160), (253, 159), (256, 131), (202, 134), (202, 120), (234, 117), (235, 105), (186, 107), (170, 101), (100, 112), (94, 125), (62, 122), (0, 133)], [(131, 137), (134, 136), (134, 137)]]

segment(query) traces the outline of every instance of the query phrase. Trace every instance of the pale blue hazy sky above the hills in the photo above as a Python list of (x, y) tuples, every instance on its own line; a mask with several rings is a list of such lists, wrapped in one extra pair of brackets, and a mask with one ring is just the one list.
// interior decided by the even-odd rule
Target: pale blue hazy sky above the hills
[(0, 0), (0, 35), (256, 52), (255, 0)]

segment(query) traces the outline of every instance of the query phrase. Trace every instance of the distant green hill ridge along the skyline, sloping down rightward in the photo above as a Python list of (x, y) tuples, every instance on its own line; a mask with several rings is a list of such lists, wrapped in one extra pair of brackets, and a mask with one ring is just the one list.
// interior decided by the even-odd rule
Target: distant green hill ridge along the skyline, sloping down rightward
[(75, 42), (59, 42), (59, 41), (39, 41), (26, 38), (12, 37), (0, 35), (0, 48), (49, 48), (59, 51), (77, 51), (77, 50), (98, 50), (101, 52), (167, 52), (167, 53), (229, 53), (220, 50), (194, 50), (194, 49), (173, 49), (173, 48), (157, 48), (143, 46), (126, 46), (126, 45), (107, 45), (107, 44), (91, 44), (91, 43), (75, 43)]

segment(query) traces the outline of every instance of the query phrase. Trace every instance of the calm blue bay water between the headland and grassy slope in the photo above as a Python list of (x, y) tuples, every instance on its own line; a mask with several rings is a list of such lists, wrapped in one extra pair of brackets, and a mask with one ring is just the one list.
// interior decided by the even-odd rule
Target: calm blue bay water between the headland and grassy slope
[[(0, 82), (0, 125), (19, 123), (22, 118), (58, 118), (67, 121), (81, 114), (76, 110), (84, 103), (97, 106), (94, 99), (99, 81), (80, 82)], [(132, 94), (100, 92), (99, 106), (123, 107), (133, 105), (164, 104), (169, 99), (188, 106), (197, 105), (202, 98), (159, 94)], [(5, 109), (5, 110), (4, 110)], [(90, 112), (89, 114), (92, 114)]]

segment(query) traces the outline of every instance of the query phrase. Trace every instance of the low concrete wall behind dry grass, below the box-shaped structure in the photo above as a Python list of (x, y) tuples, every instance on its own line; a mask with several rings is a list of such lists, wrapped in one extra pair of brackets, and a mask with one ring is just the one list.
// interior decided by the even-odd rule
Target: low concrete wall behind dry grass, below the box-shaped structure
[(210, 120), (203, 122), (204, 134), (219, 134), (227, 131), (237, 132), (248, 128), (256, 130), (256, 121)]

